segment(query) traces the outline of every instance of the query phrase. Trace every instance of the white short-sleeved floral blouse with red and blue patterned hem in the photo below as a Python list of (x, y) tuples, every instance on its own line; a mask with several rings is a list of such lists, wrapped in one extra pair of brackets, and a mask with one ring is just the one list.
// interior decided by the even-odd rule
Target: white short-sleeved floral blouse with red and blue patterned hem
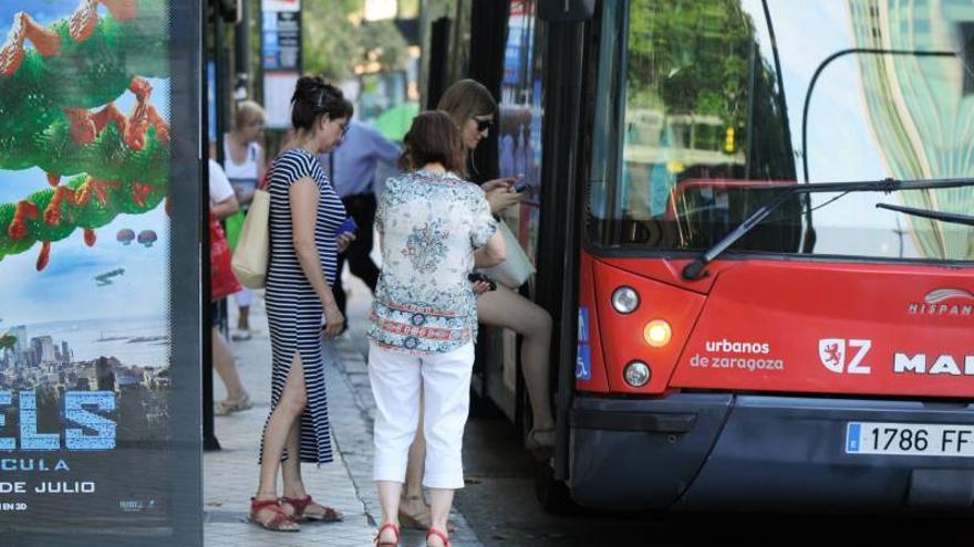
[(375, 212), (382, 273), (369, 337), (386, 349), (445, 353), (474, 339), (474, 251), (497, 232), (484, 190), (456, 175), (391, 178)]

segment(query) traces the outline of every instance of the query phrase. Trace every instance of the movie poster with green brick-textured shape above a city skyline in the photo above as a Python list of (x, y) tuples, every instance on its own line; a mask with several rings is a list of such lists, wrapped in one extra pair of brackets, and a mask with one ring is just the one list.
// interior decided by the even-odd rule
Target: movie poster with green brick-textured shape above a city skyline
[(173, 529), (169, 10), (0, 4), (2, 545)]

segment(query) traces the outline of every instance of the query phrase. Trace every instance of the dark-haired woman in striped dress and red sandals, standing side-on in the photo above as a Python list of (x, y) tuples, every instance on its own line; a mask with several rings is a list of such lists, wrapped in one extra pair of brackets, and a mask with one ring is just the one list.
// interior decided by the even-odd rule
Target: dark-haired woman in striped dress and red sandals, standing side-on
[(301, 77), (291, 98), (294, 138), (274, 160), (268, 181), (271, 251), (265, 299), (273, 371), (250, 519), (277, 532), (297, 532), (298, 520), (341, 519), (308, 495), (300, 462), (332, 461), (323, 362), (331, 354), (322, 330), (333, 338), (344, 324), (331, 285), (339, 248), (350, 240), (338, 235), (345, 209), (315, 156), (341, 143), (351, 116), (341, 91), (320, 77)]

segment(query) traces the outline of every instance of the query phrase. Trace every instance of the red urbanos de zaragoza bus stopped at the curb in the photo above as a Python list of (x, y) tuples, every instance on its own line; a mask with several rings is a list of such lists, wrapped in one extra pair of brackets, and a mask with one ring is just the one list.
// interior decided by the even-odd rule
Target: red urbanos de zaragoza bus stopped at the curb
[[(556, 323), (542, 502), (974, 508), (974, 7), (932, 4), (473, 2)], [(526, 422), (515, 343), (475, 388)]]

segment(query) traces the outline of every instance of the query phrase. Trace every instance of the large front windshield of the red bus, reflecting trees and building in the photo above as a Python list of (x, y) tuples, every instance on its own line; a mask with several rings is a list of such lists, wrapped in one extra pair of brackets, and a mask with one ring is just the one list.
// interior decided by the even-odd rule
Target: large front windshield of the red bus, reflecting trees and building
[[(968, 0), (604, 2), (589, 188), (603, 248), (711, 248), (807, 182), (974, 177)], [(728, 253), (974, 260), (974, 187), (795, 193)]]

